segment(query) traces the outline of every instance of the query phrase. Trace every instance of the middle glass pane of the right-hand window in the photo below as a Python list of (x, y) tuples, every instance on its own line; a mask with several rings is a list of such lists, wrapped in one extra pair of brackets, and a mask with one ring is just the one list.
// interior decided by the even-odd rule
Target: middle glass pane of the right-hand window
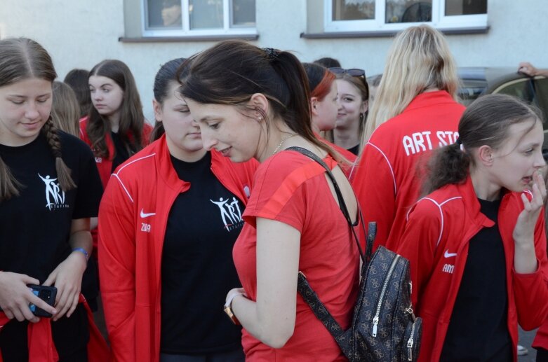
[(432, 21), (432, 0), (387, 0), (386, 22)]

